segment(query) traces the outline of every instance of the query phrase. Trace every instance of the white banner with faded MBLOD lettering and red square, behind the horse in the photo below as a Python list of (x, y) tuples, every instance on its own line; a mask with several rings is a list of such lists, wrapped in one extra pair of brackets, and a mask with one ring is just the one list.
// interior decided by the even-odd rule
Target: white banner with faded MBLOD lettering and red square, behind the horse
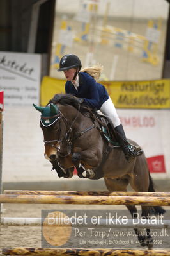
[(118, 109), (118, 115), (129, 139), (137, 142), (147, 157), (151, 173), (166, 173), (160, 123), (167, 110)]

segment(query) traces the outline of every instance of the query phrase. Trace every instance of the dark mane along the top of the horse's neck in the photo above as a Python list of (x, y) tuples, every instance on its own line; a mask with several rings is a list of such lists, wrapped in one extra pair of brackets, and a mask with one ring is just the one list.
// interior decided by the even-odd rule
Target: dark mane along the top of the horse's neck
[[(50, 99), (49, 103), (61, 104), (61, 105), (71, 105), (79, 110), (79, 101), (72, 94), (55, 94), (52, 99)], [(80, 106), (80, 112), (83, 114), (88, 112), (88, 108), (84, 106)]]

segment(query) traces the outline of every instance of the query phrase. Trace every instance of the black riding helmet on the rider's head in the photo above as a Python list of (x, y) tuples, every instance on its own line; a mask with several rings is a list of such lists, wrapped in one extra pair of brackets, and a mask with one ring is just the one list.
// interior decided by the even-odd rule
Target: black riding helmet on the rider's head
[(72, 69), (72, 67), (78, 67), (77, 73), (81, 70), (81, 60), (73, 54), (65, 55), (59, 62), (58, 71), (65, 71), (66, 69)]

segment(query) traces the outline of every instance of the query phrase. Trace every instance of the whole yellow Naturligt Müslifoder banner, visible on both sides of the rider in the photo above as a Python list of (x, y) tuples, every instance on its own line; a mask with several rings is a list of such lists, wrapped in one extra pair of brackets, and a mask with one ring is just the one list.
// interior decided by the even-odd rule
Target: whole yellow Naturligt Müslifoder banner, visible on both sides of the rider
[[(41, 105), (54, 94), (65, 93), (65, 80), (45, 76), (42, 81)], [(170, 108), (170, 80), (101, 82), (116, 108)]]

